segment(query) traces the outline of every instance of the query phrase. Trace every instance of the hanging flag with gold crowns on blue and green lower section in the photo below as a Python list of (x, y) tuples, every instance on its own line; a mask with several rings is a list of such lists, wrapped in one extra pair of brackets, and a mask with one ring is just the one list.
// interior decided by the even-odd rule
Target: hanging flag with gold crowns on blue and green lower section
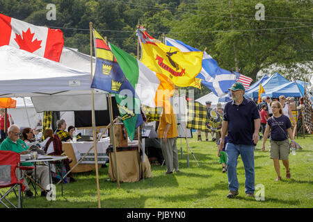
[(104, 39), (95, 30), (93, 30), (93, 37), (96, 67), (91, 87), (115, 94), (121, 119), (125, 124), (128, 137), (132, 141), (135, 129), (143, 123), (140, 113), (141, 101)]

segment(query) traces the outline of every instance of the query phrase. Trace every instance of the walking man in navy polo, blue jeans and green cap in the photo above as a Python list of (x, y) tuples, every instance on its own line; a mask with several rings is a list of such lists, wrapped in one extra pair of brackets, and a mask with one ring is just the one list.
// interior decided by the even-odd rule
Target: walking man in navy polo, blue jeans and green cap
[(227, 198), (234, 198), (239, 194), (239, 182), (236, 172), (239, 154), (246, 172), (246, 196), (253, 196), (255, 192), (254, 151), (259, 140), (259, 110), (257, 110), (255, 102), (243, 97), (245, 88), (242, 83), (234, 83), (229, 90), (232, 93), (233, 100), (225, 105), (222, 135), (218, 147), (220, 150), (223, 149), (225, 134), (228, 131), (226, 153), (230, 193), (227, 194)]

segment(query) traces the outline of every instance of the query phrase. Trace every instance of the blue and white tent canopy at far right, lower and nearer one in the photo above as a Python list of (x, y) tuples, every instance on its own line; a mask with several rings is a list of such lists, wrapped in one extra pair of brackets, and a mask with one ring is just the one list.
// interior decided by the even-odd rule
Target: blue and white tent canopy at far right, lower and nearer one
[(268, 90), (265, 93), (262, 93), (261, 96), (270, 96), (273, 98), (278, 98), (280, 95), (284, 95), (285, 97), (302, 97), (304, 94), (304, 84), (305, 83), (301, 80), (285, 83), (271, 90)]

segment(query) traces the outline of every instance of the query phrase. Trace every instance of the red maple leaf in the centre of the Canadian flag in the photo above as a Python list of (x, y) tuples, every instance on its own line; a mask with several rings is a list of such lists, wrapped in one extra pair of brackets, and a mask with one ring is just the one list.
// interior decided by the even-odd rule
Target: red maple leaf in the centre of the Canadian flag
[[(29, 51), (30, 53), (33, 53), (37, 49), (40, 49), (42, 40), (38, 41), (37, 39), (33, 40), (33, 35), (35, 33), (31, 33), (31, 28), (27, 29), (26, 33), (22, 31), (23, 37), (21, 35), (15, 34), (15, 41), (19, 45), (19, 49), (23, 49), (25, 51)], [(32, 41), (33, 40), (33, 41)]]

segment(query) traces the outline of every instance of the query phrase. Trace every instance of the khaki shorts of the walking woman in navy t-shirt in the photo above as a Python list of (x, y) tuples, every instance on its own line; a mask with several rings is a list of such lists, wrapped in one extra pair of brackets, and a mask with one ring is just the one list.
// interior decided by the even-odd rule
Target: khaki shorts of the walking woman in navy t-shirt
[(271, 159), (288, 160), (289, 157), (289, 139), (274, 141), (270, 139)]

